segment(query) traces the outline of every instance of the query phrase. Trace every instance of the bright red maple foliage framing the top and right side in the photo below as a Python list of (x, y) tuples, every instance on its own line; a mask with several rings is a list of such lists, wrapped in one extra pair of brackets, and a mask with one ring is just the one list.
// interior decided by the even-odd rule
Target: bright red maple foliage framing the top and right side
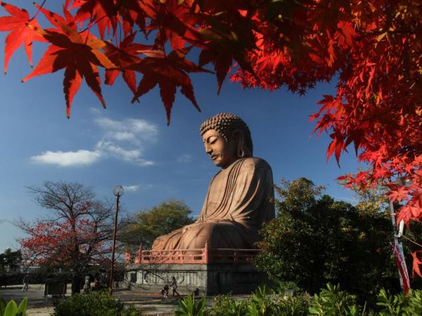
[[(62, 16), (44, 0), (32, 18), (0, 5), (10, 13), (0, 18), (0, 30), (10, 32), (5, 70), (20, 44), (31, 62), (33, 42), (48, 42), (24, 81), (65, 69), (68, 116), (82, 79), (106, 106), (98, 67), (106, 84), (122, 73), (132, 102), (158, 85), (167, 123), (177, 87), (199, 110), (189, 74), (209, 72), (208, 64), (217, 93), (228, 74), (244, 87), (286, 85), (301, 94), (319, 81), (335, 82), (336, 93), (312, 115), (315, 131), (332, 138), (328, 158), (339, 162), (353, 144), (368, 169), (343, 179), (388, 185), (390, 199), (404, 202), (399, 220), (422, 217), (420, 1), (64, 0)], [(39, 13), (53, 28), (39, 26)], [(188, 57), (192, 49), (198, 63)], [(418, 253), (414, 258), (420, 261)]]

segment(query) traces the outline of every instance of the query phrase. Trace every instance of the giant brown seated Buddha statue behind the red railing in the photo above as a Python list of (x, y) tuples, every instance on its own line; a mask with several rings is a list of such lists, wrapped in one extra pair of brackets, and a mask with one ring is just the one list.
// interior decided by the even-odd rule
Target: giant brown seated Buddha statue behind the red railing
[(155, 239), (153, 250), (254, 249), (258, 230), (274, 218), (271, 167), (252, 157), (252, 139), (245, 122), (220, 113), (200, 126), (205, 152), (221, 170), (212, 178), (195, 223)]

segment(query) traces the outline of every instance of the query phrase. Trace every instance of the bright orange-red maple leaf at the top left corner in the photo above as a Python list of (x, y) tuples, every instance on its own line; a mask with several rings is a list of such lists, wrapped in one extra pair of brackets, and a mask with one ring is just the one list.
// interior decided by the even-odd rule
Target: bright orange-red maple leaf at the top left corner
[(30, 23), (39, 27), (37, 20), (31, 19), (25, 9), (6, 4), (3, 1), (0, 1), (0, 6), (11, 13), (10, 16), (0, 17), (0, 31), (11, 31), (6, 37), (6, 46), (4, 46), (4, 73), (7, 72), (7, 65), (11, 56), (22, 44), (32, 67), (32, 42), (45, 41), (43, 37), (34, 32), (34, 29), (28, 26)]

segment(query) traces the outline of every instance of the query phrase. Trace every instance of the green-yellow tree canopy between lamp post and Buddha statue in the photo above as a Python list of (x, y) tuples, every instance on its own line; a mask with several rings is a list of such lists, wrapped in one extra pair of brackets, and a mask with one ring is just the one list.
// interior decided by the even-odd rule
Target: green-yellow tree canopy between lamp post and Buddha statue
[(184, 202), (170, 199), (129, 218), (119, 239), (130, 248), (149, 249), (155, 238), (193, 223), (192, 213)]

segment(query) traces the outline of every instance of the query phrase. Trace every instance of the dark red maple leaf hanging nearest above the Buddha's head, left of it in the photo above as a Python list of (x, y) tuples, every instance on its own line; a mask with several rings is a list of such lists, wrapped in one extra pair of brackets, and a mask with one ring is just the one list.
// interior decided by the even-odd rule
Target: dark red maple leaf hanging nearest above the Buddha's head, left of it
[(132, 103), (158, 84), (160, 86), (161, 99), (167, 113), (167, 125), (170, 124), (170, 115), (177, 86), (181, 86), (180, 92), (191, 100), (191, 103), (200, 111), (193, 93), (191, 79), (186, 73), (210, 71), (205, 70), (203, 67), (200, 67), (185, 58), (190, 49), (191, 48), (184, 48), (172, 51), (167, 56), (164, 55), (164, 53), (158, 55), (157, 51), (151, 51), (151, 56), (154, 57), (148, 56), (149, 52), (145, 51), (143, 53), (148, 57), (129, 67), (130, 69), (143, 74), (143, 78), (139, 82)]

